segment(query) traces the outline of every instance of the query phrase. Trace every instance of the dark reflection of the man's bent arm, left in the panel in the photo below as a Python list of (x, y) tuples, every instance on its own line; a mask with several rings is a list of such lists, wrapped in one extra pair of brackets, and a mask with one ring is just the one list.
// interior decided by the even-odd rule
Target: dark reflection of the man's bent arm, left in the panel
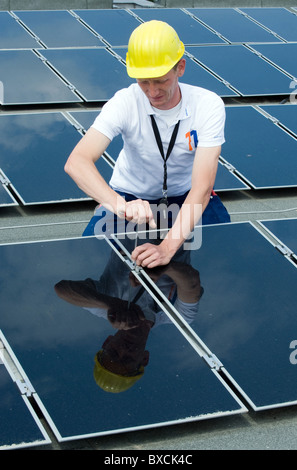
[(55, 291), (61, 299), (79, 307), (108, 309), (110, 305), (110, 297), (97, 292), (93, 282), (89, 279), (60, 281), (55, 285)]

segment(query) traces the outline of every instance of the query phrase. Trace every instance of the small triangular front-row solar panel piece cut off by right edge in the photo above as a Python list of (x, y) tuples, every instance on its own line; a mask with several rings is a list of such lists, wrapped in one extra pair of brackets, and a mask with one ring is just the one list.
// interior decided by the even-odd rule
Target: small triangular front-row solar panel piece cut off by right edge
[(263, 220), (262, 224), (297, 255), (297, 219)]

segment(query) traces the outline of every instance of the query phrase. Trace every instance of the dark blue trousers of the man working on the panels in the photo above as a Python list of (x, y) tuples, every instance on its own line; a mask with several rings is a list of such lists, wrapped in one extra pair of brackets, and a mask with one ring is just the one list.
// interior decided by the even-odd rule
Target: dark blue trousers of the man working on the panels
[[(133, 201), (134, 199), (137, 199), (135, 196), (132, 194), (127, 194), (127, 193), (122, 193), (119, 192), (121, 196), (125, 198), (126, 201)], [(168, 198), (168, 205), (170, 206), (171, 204), (177, 204), (179, 207), (182, 206), (184, 203), (184, 200), (187, 197), (187, 194), (183, 194), (182, 196), (176, 196), (176, 197), (169, 197)], [(149, 200), (148, 201), (152, 206), (157, 206), (159, 204), (159, 199), (156, 200)], [(111, 212), (107, 211), (104, 207), (99, 207), (94, 216), (91, 218), (90, 222), (88, 223), (87, 227), (85, 228), (83, 232), (83, 237), (86, 236), (92, 236), (94, 235), (94, 228), (97, 222), (99, 222), (103, 217), (109, 218), (109, 220), (112, 218), (113, 219), (113, 232), (117, 232), (117, 227), (119, 225), (118, 232), (123, 232), (123, 229), (125, 230), (125, 225), (123, 225), (123, 221), (119, 221), (118, 217), (115, 214), (112, 214)], [(209, 203), (207, 207), (205, 208), (203, 214), (202, 214), (202, 225), (209, 225), (209, 224), (219, 224), (219, 223), (228, 223), (230, 222), (230, 216), (227, 212), (227, 209), (223, 205), (222, 201), (220, 200), (219, 196), (215, 193), (212, 194)], [(127, 222), (126, 222), (127, 225)], [(168, 228), (172, 226), (172, 218), (171, 214), (168, 214)], [(104, 225), (102, 225), (103, 230), (102, 233), (104, 233)], [(96, 234), (98, 234), (96, 232)]]

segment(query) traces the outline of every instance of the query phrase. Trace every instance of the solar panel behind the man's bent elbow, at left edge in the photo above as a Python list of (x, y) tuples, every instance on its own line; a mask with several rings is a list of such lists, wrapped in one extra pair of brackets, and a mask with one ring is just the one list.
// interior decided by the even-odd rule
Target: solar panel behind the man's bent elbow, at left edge
[[(0, 168), (23, 204), (87, 199), (64, 171), (81, 135), (61, 113), (2, 114), (0, 132)], [(111, 167), (97, 165), (109, 180)]]

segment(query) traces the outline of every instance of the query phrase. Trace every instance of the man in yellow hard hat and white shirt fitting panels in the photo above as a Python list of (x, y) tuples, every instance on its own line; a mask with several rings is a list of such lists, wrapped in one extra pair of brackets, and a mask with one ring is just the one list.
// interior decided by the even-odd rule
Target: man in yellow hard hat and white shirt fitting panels
[[(155, 227), (152, 204), (179, 205), (162, 242), (144, 243), (132, 252), (136, 264), (148, 268), (169, 263), (201, 213), (202, 223), (229, 221), (213, 194), (224, 142), (224, 104), (208, 90), (179, 83), (183, 55), (184, 44), (167, 23), (138, 26), (126, 61), (137, 83), (105, 104), (65, 165), (84, 192), (127, 221)], [(95, 162), (118, 134), (124, 146), (108, 185)]]

